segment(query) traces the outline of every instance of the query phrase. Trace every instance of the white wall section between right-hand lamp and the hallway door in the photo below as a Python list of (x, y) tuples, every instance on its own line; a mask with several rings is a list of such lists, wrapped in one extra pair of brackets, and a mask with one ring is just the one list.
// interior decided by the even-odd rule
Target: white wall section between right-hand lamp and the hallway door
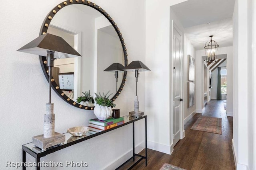
[[(185, 0), (146, 0), (146, 114), (148, 147), (170, 154), (172, 145), (170, 6)], [(177, 23), (176, 23), (177, 24)]]

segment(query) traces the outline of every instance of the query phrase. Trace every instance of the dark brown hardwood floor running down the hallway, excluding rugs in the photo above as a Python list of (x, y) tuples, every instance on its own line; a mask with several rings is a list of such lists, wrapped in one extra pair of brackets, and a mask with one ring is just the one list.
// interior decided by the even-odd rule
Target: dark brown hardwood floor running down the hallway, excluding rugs
[[(201, 115), (222, 118), (222, 135), (191, 130)], [(196, 113), (184, 129), (185, 137), (176, 144), (171, 155), (148, 149), (148, 166), (142, 160), (133, 169), (159, 170), (166, 162), (187, 170), (235, 170), (231, 141), (233, 117), (226, 116), (223, 100), (211, 100), (204, 113)], [(140, 154), (145, 155), (145, 150)], [(130, 164), (132, 162), (128, 162), (122, 169), (127, 169)]]

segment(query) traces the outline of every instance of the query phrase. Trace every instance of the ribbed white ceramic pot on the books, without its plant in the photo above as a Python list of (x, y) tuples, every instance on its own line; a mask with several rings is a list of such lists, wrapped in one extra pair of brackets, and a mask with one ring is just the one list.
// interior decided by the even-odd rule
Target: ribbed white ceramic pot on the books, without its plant
[(93, 109), (94, 114), (99, 120), (106, 120), (108, 117), (112, 115), (112, 108), (111, 106), (100, 106), (98, 104), (95, 104), (95, 107)]

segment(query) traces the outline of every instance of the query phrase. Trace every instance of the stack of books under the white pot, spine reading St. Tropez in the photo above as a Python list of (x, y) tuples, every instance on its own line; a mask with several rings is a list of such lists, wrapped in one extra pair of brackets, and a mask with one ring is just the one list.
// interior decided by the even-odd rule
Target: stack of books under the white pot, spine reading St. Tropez
[(90, 119), (89, 120), (89, 133), (95, 134), (98, 132), (102, 132), (113, 127), (119, 126), (124, 124), (124, 117), (120, 117), (117, 119), (109, 118), (106, 120), (99, 120), (99, 119)]

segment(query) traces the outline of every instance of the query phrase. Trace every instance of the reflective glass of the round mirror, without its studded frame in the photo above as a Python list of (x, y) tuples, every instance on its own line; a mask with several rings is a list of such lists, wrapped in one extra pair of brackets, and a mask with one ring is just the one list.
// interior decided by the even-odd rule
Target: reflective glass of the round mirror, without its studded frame
[(104, 70), (113, 63), (124, 65), (122, 45), (100, 12), (81, 4), (66, 6), (52, 18), (47, 33), (62, 37), (82, 55), (54, 62), (52, 75), (64, 94), (75, 102), (89, 90), (92, 96), (94, 92), (110, 91), (110, 98), (116, 94), (124, 72), (119, 70), (116, 79), (115, 70)]

